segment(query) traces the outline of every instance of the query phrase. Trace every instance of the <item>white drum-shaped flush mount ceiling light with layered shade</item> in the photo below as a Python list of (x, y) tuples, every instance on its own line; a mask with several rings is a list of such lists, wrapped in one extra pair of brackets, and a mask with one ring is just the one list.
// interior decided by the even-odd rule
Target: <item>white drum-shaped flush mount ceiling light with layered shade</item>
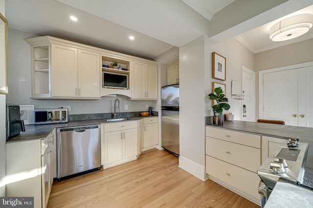
[(301, 14), (283, 19), (269, 29), (272, 41), (284, 41), (307, 33), (313, 25), (312, 14)]

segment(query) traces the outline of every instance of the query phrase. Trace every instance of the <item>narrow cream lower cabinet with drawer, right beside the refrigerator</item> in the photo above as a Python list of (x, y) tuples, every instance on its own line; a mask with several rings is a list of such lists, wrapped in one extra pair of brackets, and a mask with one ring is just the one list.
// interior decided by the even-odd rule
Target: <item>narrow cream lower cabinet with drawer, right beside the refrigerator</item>
[(143, 145), (149, 147), (158, 144), (158, 122), (157, 117), (143, 119)]

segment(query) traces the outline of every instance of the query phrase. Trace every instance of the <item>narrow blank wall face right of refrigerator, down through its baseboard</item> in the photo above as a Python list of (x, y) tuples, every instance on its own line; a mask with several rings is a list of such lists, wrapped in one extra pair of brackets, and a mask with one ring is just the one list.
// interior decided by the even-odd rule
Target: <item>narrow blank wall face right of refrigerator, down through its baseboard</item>
[(179, 167), (204, 180), (204, 37), (179, 48)]

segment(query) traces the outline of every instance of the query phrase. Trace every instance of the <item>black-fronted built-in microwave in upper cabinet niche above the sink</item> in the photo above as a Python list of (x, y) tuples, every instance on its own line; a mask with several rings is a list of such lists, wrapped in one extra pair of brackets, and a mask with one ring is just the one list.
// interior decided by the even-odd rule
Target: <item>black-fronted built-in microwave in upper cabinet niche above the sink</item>
[(102, 73), (103, 88), (128, 89), (128, 75), (112, 72)]

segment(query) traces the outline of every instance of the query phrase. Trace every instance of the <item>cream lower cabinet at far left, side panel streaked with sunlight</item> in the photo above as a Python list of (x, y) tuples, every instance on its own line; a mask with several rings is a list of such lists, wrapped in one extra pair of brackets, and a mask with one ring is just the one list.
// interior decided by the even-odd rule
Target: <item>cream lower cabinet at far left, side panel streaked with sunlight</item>
[(34, 197), (34, 208), (46, 208), (53, 183), (50, 136), (6, 144), (6, 196)]

